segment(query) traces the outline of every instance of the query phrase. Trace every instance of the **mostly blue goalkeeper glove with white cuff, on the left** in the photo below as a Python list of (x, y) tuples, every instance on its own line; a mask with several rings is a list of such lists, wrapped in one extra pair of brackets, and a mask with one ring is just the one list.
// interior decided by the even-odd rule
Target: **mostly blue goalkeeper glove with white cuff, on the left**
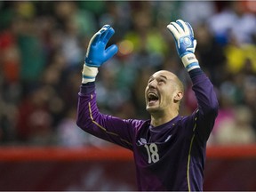
[(94, 82), (98, 68), (118, 51), (116, 44), (112, 44), (106, 49), (106, 45), (114, 33), (113, 28), (105, 25), (92, 36), (85, 55), (82, 84)]

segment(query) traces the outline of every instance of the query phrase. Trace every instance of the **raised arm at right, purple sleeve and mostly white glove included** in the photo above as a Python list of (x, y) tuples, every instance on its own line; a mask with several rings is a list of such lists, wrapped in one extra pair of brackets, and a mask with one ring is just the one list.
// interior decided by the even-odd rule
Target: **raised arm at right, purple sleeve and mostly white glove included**
[(212, 131), (219, 109), (213, 85), (200, 68), (198, 60), (196, 60), (196, 39), (190, 24), (183, 20), (176, 20), (176, 22), (171, 22), (167, 28), (174, 37), (177, 52), (191, 77), (198, 104), (198, 110), (194, 113), (196, 126), (202, 140), (205, 141)]

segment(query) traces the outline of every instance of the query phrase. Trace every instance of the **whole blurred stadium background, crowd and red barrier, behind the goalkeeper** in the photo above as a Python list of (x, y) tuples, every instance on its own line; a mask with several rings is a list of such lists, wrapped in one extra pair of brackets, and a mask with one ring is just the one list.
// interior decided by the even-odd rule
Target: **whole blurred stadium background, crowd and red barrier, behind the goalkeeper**
[(130, 152), (76, 127), (84, 54), (99, 28), (115, 28), (119, 52), (97, 76), (101, 112), (148, 118), (145, 84), (164, 68), (185, 84), (187, 115), (196, 100), (166, 30), (182, 19), (220, 101), (204, 188), (256, 190), (255, 12), (253, 1), (1, 1), (0, 189), (136, 190)]

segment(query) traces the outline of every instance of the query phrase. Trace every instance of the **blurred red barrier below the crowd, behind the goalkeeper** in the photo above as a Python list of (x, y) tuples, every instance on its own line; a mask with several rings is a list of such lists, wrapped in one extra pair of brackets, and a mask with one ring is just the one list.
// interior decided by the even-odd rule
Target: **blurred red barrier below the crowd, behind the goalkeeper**
[[(0, 190), (136, 190), (123, 148), (0, 148)], [(256, 190), (256, 145), (209, 147), (204, 190)]]

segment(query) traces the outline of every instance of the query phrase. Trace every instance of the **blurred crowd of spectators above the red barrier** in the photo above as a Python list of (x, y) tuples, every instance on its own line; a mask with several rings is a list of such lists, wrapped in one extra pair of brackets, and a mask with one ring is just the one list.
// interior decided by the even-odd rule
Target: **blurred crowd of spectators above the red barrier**
[(76, 126), (84, 55), (104, 24), (119, 51), (97, 76), (100, 111), (147, 119), (148, 77), (167, 69), (185, 85), (180, 113), (190, 114), (196, 98), (166, 29), (178, 19), (194, 28), (196, 57), (220, 102), (208, 144), (255, 143), (255, 12), (252, 1), (1, 1), (1, 145), (108, 145)]

